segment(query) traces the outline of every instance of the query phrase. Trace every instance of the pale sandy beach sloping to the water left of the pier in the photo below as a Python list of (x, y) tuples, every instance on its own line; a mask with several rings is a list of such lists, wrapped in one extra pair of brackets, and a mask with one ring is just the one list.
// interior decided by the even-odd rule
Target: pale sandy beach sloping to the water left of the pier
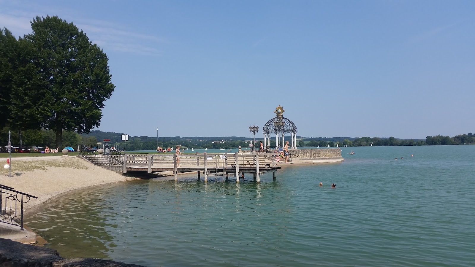
[(52, 197), (68, 191), (136, 179), (122, 176), (76, 157), (14, 158), (11, 167), (12, 177), (9, 177), (9, 170), (4, 169), (2, 164), (0, 184), (38, 197), (38, 199), (31, 198), (24, 205), (27, 213)]

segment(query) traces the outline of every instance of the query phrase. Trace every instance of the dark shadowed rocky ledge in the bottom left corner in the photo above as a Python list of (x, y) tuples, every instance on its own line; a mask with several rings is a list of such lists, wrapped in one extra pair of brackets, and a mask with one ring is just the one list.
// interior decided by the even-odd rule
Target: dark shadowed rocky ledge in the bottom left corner
[(3, 267), (143, 267), (97, 258), (59, 256), (57, 250), (0, 238), (0, 266)]

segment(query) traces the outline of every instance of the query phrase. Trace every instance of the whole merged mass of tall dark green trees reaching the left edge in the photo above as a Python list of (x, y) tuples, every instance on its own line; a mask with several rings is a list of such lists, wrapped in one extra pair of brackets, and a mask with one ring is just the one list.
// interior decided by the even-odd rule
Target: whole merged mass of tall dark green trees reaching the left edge
[(18, 40), (0, 34), (0, 127), (51, 129), (62, 147), (63, 130), (89, 133), (99, 126), (111, 97), (108, 58), (73, 23), (36, 17)]

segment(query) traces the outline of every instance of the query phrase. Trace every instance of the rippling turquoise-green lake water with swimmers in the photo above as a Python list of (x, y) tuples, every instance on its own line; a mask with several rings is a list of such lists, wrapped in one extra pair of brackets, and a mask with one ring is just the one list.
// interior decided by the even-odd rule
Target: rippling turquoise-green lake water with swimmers
[(345, 162), (286, 167), (260, 184), (192, 176), (87, 189), (28, 226), (63, 257), (149, 267), (475, 266), (474, 145), (342, 149)]

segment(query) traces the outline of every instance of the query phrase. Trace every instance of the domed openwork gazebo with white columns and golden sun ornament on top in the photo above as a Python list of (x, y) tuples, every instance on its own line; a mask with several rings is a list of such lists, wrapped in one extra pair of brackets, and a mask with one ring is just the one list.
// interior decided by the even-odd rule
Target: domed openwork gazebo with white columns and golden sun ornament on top
[[(297, 142), (295, 141), (297, 127), (291, 120), (284, 118), (284, 112), (285, 109), (281, 105), (276, 107), (276, 110), (274, 111), (276, 117), (270, 119), (262, 128), (262, 132), (264, 133), (264, 146), (266, 148), (270, 148), (270, 134), (276, 134), (277, 147), (284, 147), (284, 135), (291, 134), (292, 143), (290, 144), (290, 149), (295, 149), (297, 147)], [(281, 144), (279, 143), (280, 136), (282, 136)]]

